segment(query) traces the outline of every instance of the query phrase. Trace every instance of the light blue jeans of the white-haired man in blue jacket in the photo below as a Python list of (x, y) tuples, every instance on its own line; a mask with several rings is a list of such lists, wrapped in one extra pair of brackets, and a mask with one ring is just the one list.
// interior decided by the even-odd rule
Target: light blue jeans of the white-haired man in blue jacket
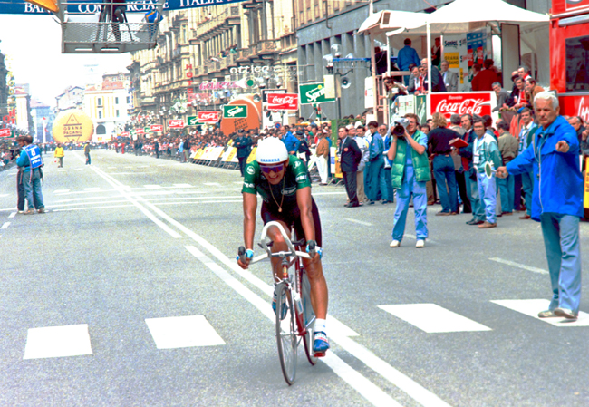
[(549, 309), (561, 307), (578, 313), (581, 302), (579, 218), (543, 213), (540, 222), (553, 293)]

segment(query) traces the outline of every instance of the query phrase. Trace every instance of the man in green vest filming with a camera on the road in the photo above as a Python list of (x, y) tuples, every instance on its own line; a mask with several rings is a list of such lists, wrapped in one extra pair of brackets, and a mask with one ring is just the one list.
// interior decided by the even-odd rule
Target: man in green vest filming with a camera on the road
[[(417, 243), (415, 247), (424, 247), (428, 237), (428, 194), (425, 184), (431, 179), (430, 161), (426, 152), (428, 136), (417, 130), (419, 119), (417, 115), (408, 113), (405, 115), (405, 131), (393, 124), (391, 128), (392, 142), (387, 153), (392, 161), (391, 181), (392, 188), (397, 189), (397, 208), (395, 209), (394, 225), (392, 227), (392, 242), (390, 247), (400, 247), (405, 233), (405, 221), (407, 211), (413, 196), (413, 209), (415, 210), (415, 234)], [(401, 133), (401, 134), (400, 134)]]

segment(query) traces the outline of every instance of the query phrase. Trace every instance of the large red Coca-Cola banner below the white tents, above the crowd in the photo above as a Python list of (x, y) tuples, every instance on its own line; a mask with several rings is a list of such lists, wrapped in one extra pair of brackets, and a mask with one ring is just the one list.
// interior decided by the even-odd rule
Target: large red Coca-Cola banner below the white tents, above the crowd
[(431, 93), (431, 114), (439, 111), (447, 119), (454, 113), (491, 115), (497, 97), (495, 92)]

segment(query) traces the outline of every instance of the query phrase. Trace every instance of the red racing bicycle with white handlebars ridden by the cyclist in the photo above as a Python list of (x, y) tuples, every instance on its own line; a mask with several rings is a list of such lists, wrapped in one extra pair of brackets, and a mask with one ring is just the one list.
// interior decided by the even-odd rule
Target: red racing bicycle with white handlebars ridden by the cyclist
[[(273, 242), (266, 242), (268, 228), (276, 227), (285, 238), (288, 249), (272, 253)], [(314, 257), (314, 242), (309, 244), (309, 254), (302, 251), (305, 240), (296, 240), (294, 228), (293, 239), (285, 232), (285, 228), (278, 222), (266, 223), (262, 230), (261, 241), (258, 244), (266, 252), (251, 259), (250, 264), (257, 263), (269, 257), (282, 258), (281, 271), (275, 277), (275, 329), (278, 345), (278, 358), (285, 381), (289, 385), (294, 383), (296, 375), (296, 359), (298, 345), (303, 342), (304, 353), (311, 365), (317, 363), (317, 358), (324, 354), (313, 352), (313, 327), (315, 314), (311, 305), (311, 285), (303, 267), (303, 258)], [(245, 260), (246, 248), (239, 247), (238, 254)], [(293, 267), (294, 266), (294, 267)]]

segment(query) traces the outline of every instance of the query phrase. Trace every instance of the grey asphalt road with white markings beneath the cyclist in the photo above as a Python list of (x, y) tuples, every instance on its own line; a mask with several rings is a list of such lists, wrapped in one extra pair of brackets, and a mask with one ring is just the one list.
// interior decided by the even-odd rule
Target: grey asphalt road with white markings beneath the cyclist
[(394, 205), (343, 208), (343, 187), (314, 186), (332, 351), (312, 367), (299, 349), (289, 387), (270, 268), (235, 264), (238, 171), (46, 160), (43, 215), (15, 214), (15, 169), (0, 172), (0, 405), (589, 405), (589, 315), (530, 316), (550, 298), (536, 222), (480, 230), (434, 206), (424, 249), (412, 212), (390, 248)]

